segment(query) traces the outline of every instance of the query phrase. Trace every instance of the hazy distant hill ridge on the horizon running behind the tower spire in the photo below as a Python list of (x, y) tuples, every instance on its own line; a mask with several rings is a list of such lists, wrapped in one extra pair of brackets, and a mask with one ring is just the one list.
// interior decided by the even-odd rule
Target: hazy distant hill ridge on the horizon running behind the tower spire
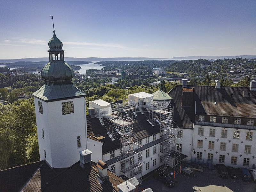
[[(65, 61), (134, 61), (134, 60), (168, 60), (167, 58), (149, 58), (149, 57), (86, 57), (86, 58), (76, 58), (76, 57), (65, 57)], [(4, 59), (0, 60), (0, 63), (15, 63), (18, 61), (32, 61), (32, 62), (40, 62), (45, 61), (48, 62), (48, 57), (37, 57), (37, 58), (24, 58), (24, 59)], [(90, 62), (91, 63), (91, 62)]]

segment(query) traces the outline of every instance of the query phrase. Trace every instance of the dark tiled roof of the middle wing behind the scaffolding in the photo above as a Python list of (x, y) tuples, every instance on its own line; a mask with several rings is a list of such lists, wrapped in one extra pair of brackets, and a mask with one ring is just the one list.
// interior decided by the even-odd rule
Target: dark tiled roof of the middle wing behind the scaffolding
[[(141, 114), (140, 112), (137, 113), (137, 117), (133, 115), (133, 113), (130, 114), (130, 117), (134, 119), (133, 123), (133, 133), (134, 133), (134, 142), (137, 140), (144, 139), (146, 137), (149, 137), (151, 135), (154, 135), (158, 132), (160, 132), (160, 126), (158, 124), (155, 124), (155, 126), (151, 126), (148, 121), (147, 117), (148, 113)], [(97, 134), (100, 134), (105, 137), (105, 139), (100, 140), (103, 142), (102, 146), (102, 154), (107, 154), (110, 151), (116, 150), (120, 148), (120, 140), (115, 139), (112, 141), (110, 137), (108, 136), (108, 123), (104, 121), (105, 125), (100, 124), (100, 120), (98, 118), (90, 118), (89, 115), (87, 115), (87, 133), (90, 136), (95, 136)], [(119, 136), (118, 136), (119, 137)]]

